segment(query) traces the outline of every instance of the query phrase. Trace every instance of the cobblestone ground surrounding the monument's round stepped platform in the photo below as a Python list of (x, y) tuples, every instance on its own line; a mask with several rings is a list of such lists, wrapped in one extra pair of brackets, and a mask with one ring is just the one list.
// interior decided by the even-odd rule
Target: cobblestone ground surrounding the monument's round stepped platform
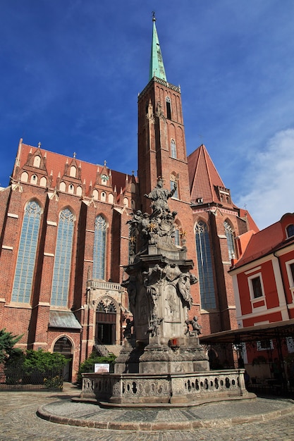
[[(36, 411), (39, 406), (51, 406), (51, 403), (56, 403), (56, 408), (62, 408), (61, 404), (66, 405), (68, 399), (73, 395), (78, 395), (79, 391), (73, 389), (66, 389), (61, 393), (49, 392), (0, 392), (0, 440), (39, 440), (39, 441), (56, 441), (56, 440), (85, 440), (85, 441), (191, 441), (191, 440), (209, 440), (209, 441), (240, 441), (240, 440), (255, 440), (255, 441), (294, 441), (294, 414), (287, 416), (280, 416), (267, 421), (259, 423), (244, 423), (236, 426), (221, 427), (221, 423), (215, 428), (197, 428), (194, 430), (164, 430), (164, 431), (129, 431), (129, 430), (104, 430), (97, 428), (66, 426), (56, 423), (50, 423), (39, 418)], [(288, 406), (288, 401), (258, 399), (262, 407), (262, 412), (267, 407), (272, 412), (273, 409), (281, 409)], [(260, 413), (257, 411), (257, 404), (254, 402), (247, 402), (246, 414)], [(267, 404), (268, 403), (268, 404)], [(235, 406), (234, 414), (238, 415), (236, 411), (239, 404), (237, 402), (231, 403)], [(230, 404), (230, 406), (231, 406)], [(244, 404), (244, 403), (243, 403)], [(243, 405), (242, 404), (242, 405)], [(71, 405), (74, 405), (71, 403)], [(78, 404), (82, 406), (82, 404)], [(92, 406), (93, 405), (86, 405)], [(228, 417), (225, 414), (225, 406), (221, 404), (214, 404), (201, 406), (202, 411), (198, 408), (199, 418), (202, 418), (201, 412), (208, 412), (211, 409), (211, 417), (223, 418)], [(192, 409), (192, 408), (190, 408)], [(229, 409), (229, 407), (228, 407)], [(95, 409), (96, 410), (96, 409)], [(242, 411), (242, 409), (239, 408)], [(244, 409), (243, 409), (244, 410)], [(114, 409), (111, 410), (113, 418), (117, 420), (120, 416)], [(128, 410), (131, 416), (131, 411)], [(184, 412), (184, 411), (183, 411)], [(86, 412), (87, 413), (87, 412)], [(94, 413), (95, 414), (95, 413)], [(89, 413), (87, 413), (87, 417)], [(150, 414), (148, 414), (148, 418)], [(194, 416), (195, 417), (195, 416)], [(135, 418), (131, 416), (130, 418)]]

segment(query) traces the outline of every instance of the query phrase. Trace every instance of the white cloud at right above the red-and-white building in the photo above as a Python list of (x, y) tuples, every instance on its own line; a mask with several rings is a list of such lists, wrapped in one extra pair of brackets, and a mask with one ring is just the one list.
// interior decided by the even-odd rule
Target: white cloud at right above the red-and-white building
[(262, 229), (294, 211), (294, 129), (277, 132), (264, 151), (252, 155), (251, 164), (245, 182), (249, 191), (237, 205), (246, 206)]

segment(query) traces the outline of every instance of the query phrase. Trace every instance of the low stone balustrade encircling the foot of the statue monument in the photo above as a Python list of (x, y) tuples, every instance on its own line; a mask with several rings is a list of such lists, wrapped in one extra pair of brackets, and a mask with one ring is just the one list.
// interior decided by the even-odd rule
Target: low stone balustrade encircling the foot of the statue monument
[(80, 399), (128, 406), (195, 405), (233, 397), (251, 397), (244, 369), (183, 374), (83, 373)]

